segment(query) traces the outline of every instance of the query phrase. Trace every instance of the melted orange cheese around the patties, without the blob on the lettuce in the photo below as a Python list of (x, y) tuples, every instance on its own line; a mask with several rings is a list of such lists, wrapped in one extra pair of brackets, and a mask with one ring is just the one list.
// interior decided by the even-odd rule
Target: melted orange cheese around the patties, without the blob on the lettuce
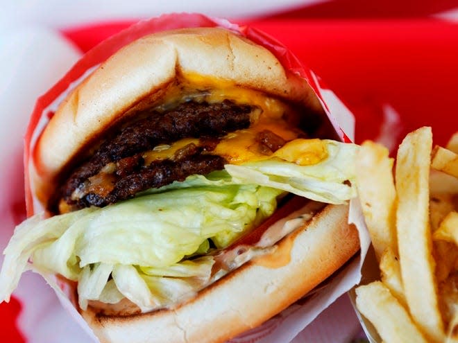
[[(285, 114), (291, 114), (289, 105), (282, 101), (266, 96), (260, 91), (236, 87), (225, 80), (209, 80), (198, 75), (187, 75), (186, 80), (193, 86), (183, 83), (180, 89), (175, 88), (164, 98), (164, 109), (185, 100), (197, 102), (221, 103), (223, 100), (232, 100), (239, 105), (253, 105), (257, 107), (251, 114), (251, 126), (248, 129), (237, 130), (222, 137), (217, 147), (208, 152), (219, 155), (230, 164), (243, 164), (246, 161), (259, 161), (269, 159), (271, 154), (266, 154), (259, 148), (256, 140), (258, 133), (269, 130), (285, 141), (297, 139), (300, 131), (285, 121)], [(196, 86), (197, 85), (197, 86)], [(189, 89), (188, 89), (189, 87)], [(196, 91), (199, 89), (199, 91)], [(186, 94), (183, 96), (183, 94)], [(160, 144), (153, 150), (144, 152), (145, 164), (164, 159), (173, 159), (173, 155), (194, 143), (200, 145), (198, 139), (181, 139), (172, 144)]]

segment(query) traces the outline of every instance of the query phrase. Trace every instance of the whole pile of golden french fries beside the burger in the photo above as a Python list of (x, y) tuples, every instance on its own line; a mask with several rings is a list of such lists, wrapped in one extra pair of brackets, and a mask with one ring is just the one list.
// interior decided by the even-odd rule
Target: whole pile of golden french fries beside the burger
[(386, 343), (458, 343), (457, 154), (458, 132), (433, 151), (421, 127), (398, 149), (393, 184), (386, 150), (365, 142), (359, 152), (357, 190), (381, 281), (356, 288), (356, 304)]

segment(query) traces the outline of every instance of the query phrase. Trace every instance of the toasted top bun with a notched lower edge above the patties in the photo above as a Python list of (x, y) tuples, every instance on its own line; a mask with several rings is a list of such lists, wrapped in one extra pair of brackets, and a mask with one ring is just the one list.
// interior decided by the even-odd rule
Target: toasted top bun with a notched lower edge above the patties
[(112, 55), (72, 91), (46, 126), (33, 155), (35, 194), (46, 202), (56, 176), (81, 150), (146, 98), (157, 100), (178, 76), (198, 75), (287, 98), (317, 112), (307, 82), (262, 46), (222, 28), (142, 37)]

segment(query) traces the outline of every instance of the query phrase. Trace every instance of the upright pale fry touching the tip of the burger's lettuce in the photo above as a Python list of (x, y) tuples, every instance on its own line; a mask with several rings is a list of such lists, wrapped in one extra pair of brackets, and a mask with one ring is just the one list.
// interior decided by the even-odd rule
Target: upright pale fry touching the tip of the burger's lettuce
[(356, 162), (359, 200), (378, 261), (387, 248), (398, 252), (393, 159), (388, 154), (387, 148), (366, 141), (359, 148)]

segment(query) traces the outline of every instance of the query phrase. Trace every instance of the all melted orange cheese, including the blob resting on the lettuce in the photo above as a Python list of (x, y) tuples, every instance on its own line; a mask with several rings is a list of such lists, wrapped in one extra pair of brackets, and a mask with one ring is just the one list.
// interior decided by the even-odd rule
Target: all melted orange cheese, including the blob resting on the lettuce
[[(180, 81), (180, 87), (173, 87), (162, 99), (161, 107), (167, 109), (175, 103), (187, 100), (207, 103), (221, 103), (223, 100), (232, 100), (240, 105), (257, 107), (251, 114), (251, 126), (248, 129), (237, 130), (222, 137), (213, 151), (204, 152), (219, 155), (229, 164), (243, 164), (247, 161), (260, 161), (276, 157), (300, 165), (316, 164), (327, 157), (325, 144), (319, 139), (298, 139), (300, 131), (285, 120), (285, 114), (291, 115), (294, 111), (289, 105), (278, 98), (253, 89), (237, 87), (228, 80), (209, 78), (197, 74), (186, 74)], [(264, 130), (269, 130), (281, 137), (287, 143), (278, 152), (271, 154), (260, 149), (260, 142), (256, 136)], [(309, 142), (307, 142), (309, 141)], [(294, 143), (297, 142), (297, 143)], [(187, 144), (199, 146), (198, 139), (180, 139), (171, 144), (160, 144), (153, 150), (143, 153), (145, 165), (153, 161), (172, 159), (173, 155)], [(305, 151), (306, 150), (306, 151)]]

